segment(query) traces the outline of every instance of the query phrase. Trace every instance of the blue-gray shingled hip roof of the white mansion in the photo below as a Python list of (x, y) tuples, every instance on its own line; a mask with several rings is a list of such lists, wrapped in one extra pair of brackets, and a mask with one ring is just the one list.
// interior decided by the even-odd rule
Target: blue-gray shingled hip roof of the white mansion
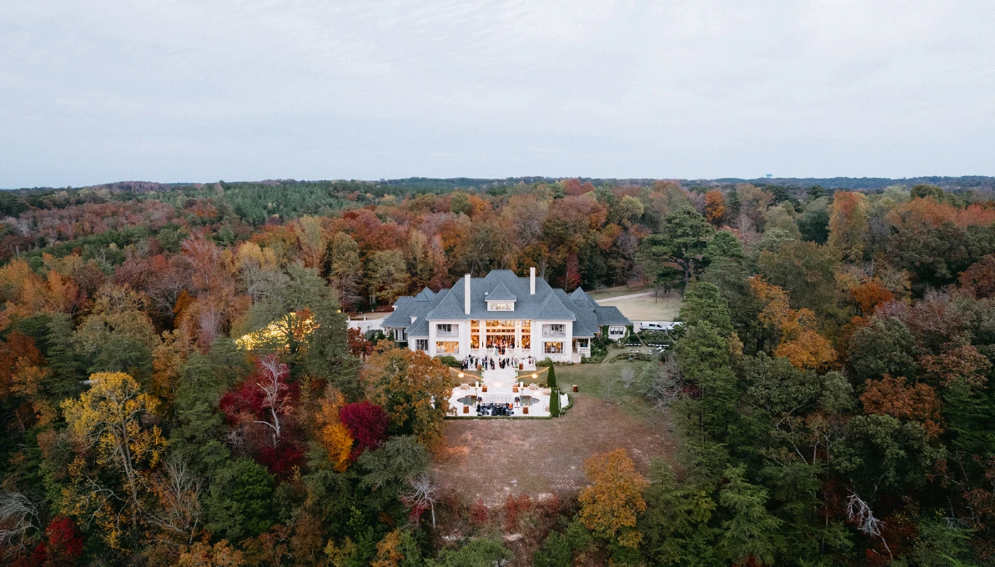
[[(543, 278), (535, 278), (535, 294), (529, 293), (528, 277), (510, 270), (494, 270), (483, 278), (471, 278), (470, 314), (464, 312), (464, 285), (460, 278), (452, 289), (438, 293), (425, 288), (416, 297), (402, 297), (394, 303), (394, 313), (383, 321), (384, 328), (403, 328), (409, 337), (428, 337), (429, 321), (467, 319), (531, 319), (573, 321), (574, 337), (593, 337), (605, 325), (631, 325), (615, 307), (600, 307), (584, 290), (570, 295), (553, 289)], [(513, 311), (488, 311), (488, 301), (514, 301)], [(412, 323), (411, 318), (415, 317)]]

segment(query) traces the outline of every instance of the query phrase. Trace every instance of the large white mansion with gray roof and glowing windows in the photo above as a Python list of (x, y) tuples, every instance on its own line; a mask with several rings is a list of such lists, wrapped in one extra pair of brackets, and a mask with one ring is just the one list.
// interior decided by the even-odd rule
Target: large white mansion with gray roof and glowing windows
[(467, 274), (452, 289), (425, 288), (398, 298), (383, 321), (384, 332), (412, 351), (430, 356), (496, 354), (579, 362), (591, 354), (590, 340), (602, 333), (621, 339), (632, 323), (616, 307), (601, 307), (584, 290), (567, 295), (542, 278), (495, 270), (483, 278)]

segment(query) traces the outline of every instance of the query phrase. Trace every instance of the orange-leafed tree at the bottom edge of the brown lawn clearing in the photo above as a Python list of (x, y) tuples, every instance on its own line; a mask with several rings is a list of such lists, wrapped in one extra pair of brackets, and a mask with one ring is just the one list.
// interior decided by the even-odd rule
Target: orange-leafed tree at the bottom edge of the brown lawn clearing
[(590, 485), (580, 494), (580, 521), (595, 534), (637, 547), (643, 534), (636, 520), (646, 510), (643, 490), (649, 482), (636, 471), (625, 449), (595, 455), (584, 462)]

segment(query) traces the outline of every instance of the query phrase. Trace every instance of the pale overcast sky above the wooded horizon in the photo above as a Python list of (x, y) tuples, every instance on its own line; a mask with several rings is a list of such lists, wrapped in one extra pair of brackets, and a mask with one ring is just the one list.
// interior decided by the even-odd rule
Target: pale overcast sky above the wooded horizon
[(995, 175), (995, 2), (0, 0), (0, 187)]

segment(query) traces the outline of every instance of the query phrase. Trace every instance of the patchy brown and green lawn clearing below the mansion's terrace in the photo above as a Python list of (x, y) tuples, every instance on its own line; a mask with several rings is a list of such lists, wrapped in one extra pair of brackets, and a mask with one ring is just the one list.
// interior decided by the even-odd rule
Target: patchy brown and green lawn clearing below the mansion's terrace
[(625, 366), (642, 370), (625, 361), (557, 366), (560, 387), (580, 388), (560, 418), (448, 420), (446, 455), (434, 467), (441, 488), (492, 506), (511, 494), (574, 496), (592, 455), (623, 448), (644, 474), (651, 458), (673, 459), (669, 416), (650, 413), (632, 389), (605, 386)]

